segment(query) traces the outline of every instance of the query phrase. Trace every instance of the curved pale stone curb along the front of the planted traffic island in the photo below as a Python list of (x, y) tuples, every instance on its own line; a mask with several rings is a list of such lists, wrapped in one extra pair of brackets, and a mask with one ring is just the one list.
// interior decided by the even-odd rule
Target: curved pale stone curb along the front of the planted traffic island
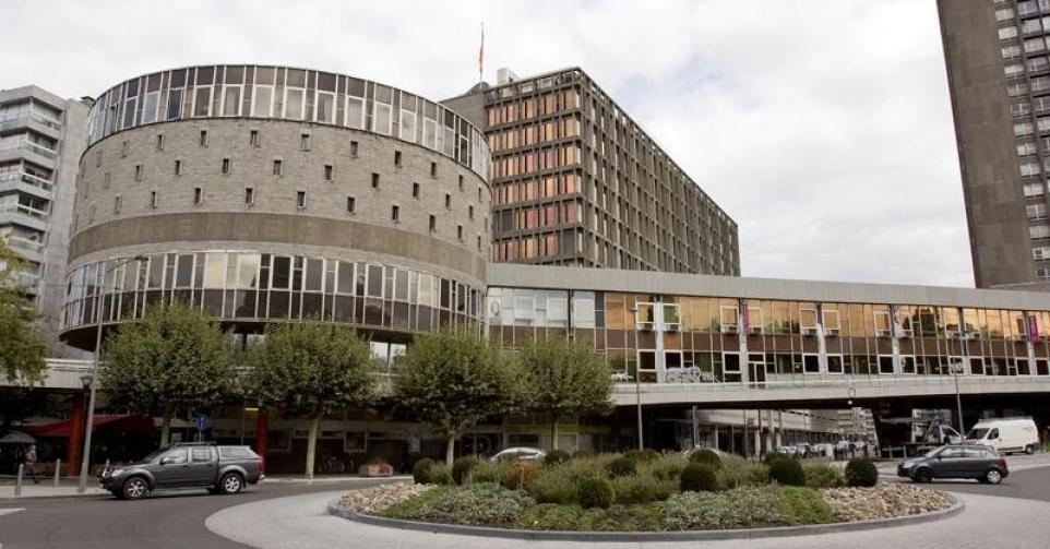
[(808, 524), (804, 526), (777, 526), (772, 528), (748, 528), (727, 530), (687, 530), (687, 532), (561, 532), (561, 530), (518, 530), (492, 528), (487, 526), (463, 526), (458, 524), (423, 523), (401, 518), (384, 518), (360, 514), (338, 506), (338, 500), (329, 503), (329, 514), (371, 526), (383, 526), (403, 530), (428, 532), (431, 534), (458, 534), (528, 541), (708, 541), (721, 539), (756, 539), (771, 537), (811, 536), (842, 532), (859, 532), (891, 528), (911, 524), (922, 524), (955, 516), (963, 512), (963, 502), (954, 494), (951, 506), (920, 515), (876, 518), (851, 523)]

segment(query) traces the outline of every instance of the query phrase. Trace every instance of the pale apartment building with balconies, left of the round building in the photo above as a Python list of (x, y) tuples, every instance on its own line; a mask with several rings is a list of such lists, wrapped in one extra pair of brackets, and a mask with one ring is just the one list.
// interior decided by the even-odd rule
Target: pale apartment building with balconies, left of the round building
[(20, 282), (57, 329), (76, 170), (91, 106), (36, 86), (0, 91), (0, 238), (23, 259)]

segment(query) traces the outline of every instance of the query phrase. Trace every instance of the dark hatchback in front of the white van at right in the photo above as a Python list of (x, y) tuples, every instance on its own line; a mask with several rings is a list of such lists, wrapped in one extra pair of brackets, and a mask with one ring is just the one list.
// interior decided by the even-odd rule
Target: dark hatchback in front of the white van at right
[(998, 485), (1010, 475), (1006, 458), (991, 446), (947, 445), (908, 460), (897, 466), (897, 476), (915, 482), (935, 478), (974, 478), (981, 484)]

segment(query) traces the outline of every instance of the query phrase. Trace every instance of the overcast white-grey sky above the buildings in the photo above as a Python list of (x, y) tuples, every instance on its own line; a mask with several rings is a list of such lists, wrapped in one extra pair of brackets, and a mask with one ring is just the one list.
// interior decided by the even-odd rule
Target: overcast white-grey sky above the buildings
[(933, 0), (4, 0), (0, 88), (207, 63), (441, 99), (578, 65), (740, 227), (744, 276), (971, 286)]

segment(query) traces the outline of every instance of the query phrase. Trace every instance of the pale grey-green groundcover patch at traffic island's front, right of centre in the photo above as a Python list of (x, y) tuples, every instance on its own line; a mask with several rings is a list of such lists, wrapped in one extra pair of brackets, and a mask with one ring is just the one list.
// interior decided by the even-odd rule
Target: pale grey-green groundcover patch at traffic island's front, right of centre
[(773, 487), (683, 492), (664, 504), (664, 525), (671, 530), (777, 526), (784, 524), (780, 505)]

